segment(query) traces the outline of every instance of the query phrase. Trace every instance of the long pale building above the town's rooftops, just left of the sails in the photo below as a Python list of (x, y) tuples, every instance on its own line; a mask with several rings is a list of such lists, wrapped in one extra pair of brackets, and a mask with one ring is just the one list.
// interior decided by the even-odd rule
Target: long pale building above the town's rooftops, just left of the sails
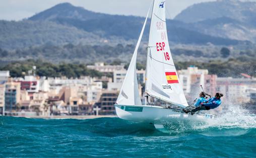
[(114, 71), (119, 71), (124, 69), (124, 64), (122, 65), (104, 65), (103, 62), (95, 63), (94, 65), (88, 65), (88, 69), (97, 70), (104, 73), (113, 73)]

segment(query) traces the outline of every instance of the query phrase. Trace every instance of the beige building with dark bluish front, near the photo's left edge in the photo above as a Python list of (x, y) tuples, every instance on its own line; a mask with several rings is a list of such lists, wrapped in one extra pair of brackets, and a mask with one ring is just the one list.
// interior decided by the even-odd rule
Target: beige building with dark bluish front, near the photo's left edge
[(21, 83), (10, 82), (6, 83), (5, 90), (5, 114), (12, 115), (16, 112), (17, 104), (20, 102), (21, 98)]

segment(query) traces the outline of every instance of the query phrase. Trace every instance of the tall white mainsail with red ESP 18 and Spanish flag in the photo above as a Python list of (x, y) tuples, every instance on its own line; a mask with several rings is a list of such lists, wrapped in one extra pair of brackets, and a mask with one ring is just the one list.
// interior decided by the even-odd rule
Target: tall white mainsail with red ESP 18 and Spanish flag
[(146, 93), (174, 105), (188, 106), (169, 48), (164, 0), (154, 1), (147, 57)]

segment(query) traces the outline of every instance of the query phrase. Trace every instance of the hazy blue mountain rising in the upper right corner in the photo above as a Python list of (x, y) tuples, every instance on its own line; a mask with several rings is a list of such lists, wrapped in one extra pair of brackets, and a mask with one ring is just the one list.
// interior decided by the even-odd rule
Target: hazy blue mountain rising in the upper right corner
[[(256, 42), (256, 3), (222, 0), (195, 4), (174, 20), (188, 25), (188, 30), (234, 40)], [(188, 27), (189, 26), (189, 27)]]

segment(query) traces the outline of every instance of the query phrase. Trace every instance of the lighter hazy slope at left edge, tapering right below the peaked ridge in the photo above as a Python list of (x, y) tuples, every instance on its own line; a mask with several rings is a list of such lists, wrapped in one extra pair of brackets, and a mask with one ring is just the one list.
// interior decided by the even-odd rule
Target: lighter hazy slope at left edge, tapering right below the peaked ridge
[(75, 27), (45, 21), (0, 21), (0, 48), (17, 49), (40, 45), (63, 45), (103, 41), (99, 36)]

